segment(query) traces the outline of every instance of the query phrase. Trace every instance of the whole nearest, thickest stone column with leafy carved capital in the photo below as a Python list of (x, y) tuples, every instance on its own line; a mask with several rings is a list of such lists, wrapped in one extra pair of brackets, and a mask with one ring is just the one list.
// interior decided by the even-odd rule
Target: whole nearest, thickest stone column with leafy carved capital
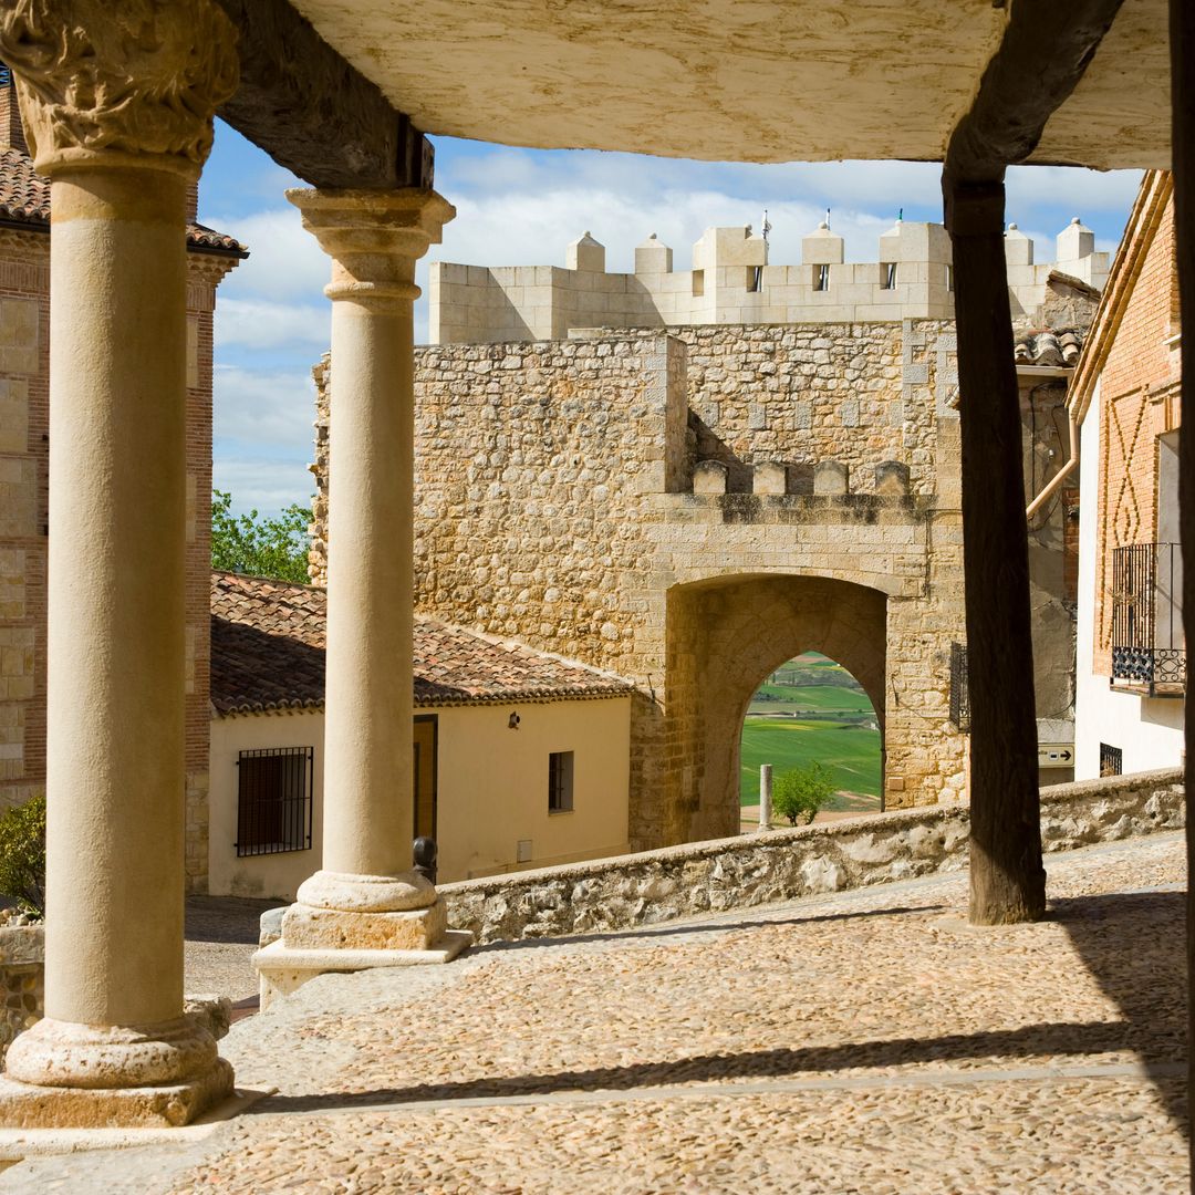
[(50, 177), (45, 1019), (17, 1126), (177, 1124), (232, 1070), (183, 1012), (185, 198), (237, 80), (209, 0), (0, 14)]

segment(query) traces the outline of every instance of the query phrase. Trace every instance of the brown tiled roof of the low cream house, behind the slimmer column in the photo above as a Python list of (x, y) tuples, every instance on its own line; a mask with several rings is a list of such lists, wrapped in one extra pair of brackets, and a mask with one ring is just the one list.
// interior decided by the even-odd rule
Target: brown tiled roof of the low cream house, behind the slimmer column
[[(212, 705), (217, 713), (324, 704), (325, 594), (212, 574)], [(415, 617), (415, 704), (609, 697), (629, 680), (522, 644)]]

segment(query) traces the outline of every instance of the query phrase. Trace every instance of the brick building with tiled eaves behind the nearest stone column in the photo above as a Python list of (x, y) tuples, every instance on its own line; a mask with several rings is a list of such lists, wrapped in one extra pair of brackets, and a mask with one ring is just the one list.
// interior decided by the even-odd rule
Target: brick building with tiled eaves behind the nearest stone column
[[(216, 287), (246, 256), (188, 225), (186, 868), (207, 874), (208, 587), (212, 569), (212, 323)], [(33, 170), (7, 68), (0, 66), (0, 805), (45, 783), (50, 188)], [(81, 570), (103, 562), (81, 559)]]

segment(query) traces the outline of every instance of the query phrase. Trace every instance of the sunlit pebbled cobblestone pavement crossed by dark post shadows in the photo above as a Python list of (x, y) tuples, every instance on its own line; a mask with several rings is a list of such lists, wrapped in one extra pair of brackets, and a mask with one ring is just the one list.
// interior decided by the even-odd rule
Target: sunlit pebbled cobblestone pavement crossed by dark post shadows
[(0, 1190), (1185, 1190), (1182, 838), (1046, 865), (323, 976), (225, 1042), (277, 1095)]

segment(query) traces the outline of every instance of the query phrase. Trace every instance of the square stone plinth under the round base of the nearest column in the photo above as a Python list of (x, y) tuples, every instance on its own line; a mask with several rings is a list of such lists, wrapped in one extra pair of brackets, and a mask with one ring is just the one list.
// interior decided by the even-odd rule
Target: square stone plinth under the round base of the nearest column
[(0, 1076), (0, 1126), (179, 1128), (232, 1091), (232, 1066), (222, 1058), (185, 1083), (146, 1087), (42, 1087)]

